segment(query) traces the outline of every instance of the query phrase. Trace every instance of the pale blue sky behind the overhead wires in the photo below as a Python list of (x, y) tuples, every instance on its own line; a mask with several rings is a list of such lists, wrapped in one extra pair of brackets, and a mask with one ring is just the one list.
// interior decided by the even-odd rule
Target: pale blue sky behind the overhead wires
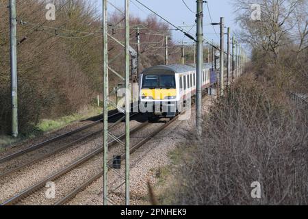
[[(173, 23), (176, 26), (185, 26), (185, 25), (194, 25), (194, 20), (196, 16), (193, 12), (196, 12), (196, 0), (184, 0), (185, 3), (188, 5), (188, 8), (192, 10), (191, 12), (183, 3), (182, 0), (139, 0), (144, 5), (148, 6), (157, 14), (163, 16), (168, 21)], [(233, 13), (232, 2), (233, 0), (207, 0), (209, 5), (209, 10), (211, 14), (212, 21), (214, 23), (220, 22), (220, 17), (224, 17), (225, 26), (231, 27), (231, 31), (237, 28), (235, 24), (235, 14)], [(97, 0), (99, 6), (101, 6), (101, 0)], [(124, 0), (110, 0), (114, 5), (118, 8), (124, 8)], [(112, 5), (108, 4), (108, 12), (113, 12), (114, 8)], [(141, 18), (146, 18), (149, 16), (151, 12), (144, 8), (142, 5), (137, 3), (135, 0), (130, 1), (130, 13), (133, 15), (140, 16)], [(205, 38), (209, 40), (214, 40), (216, 44), (219, 42), (219, 26), (215, 26), (216, 33), (213, 29), (213, 26), (209, 25), (211, 20), (209, 18), (209, 12), (207, 11), (206, 3), (203, 4), (203, 31), (205, 34)], [(183, 27), (186, 31), (190, 30), (191, 27)], [(227, 32), (227, 30), (226, 30)], [(192, 36), (195, 36), (196, 29), (193, 28), (190, 33)], [(180, 31), (172, 31), (172, 38), (177, 43), (181, 43), (183, 40), (183, 34)], [(191, 43), (192, 41), (188, 38), (184, 38), (184, 42)]]

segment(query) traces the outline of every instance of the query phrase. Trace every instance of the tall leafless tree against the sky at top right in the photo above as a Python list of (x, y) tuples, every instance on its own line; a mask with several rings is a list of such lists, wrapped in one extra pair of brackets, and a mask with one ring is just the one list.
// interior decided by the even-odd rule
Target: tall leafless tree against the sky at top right
[[(261, 7), (261, 20), (251, 18), (252, 5)], [(281, 47), (298, 44), (296, 52), (307, 48), (307, 0), (235, 0), (242, 27), (241, 39), (254, 49), (270, 51), (275, 60)]]

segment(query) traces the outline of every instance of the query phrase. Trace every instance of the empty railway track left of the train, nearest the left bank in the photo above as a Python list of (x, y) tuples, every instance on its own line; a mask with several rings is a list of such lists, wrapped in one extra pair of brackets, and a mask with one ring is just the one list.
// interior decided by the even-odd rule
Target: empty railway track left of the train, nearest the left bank
[[(116, 118), (120, 116), (121, 113), (116, 113), (108, 116), (109, 119)], [(131, 114), (131, 116), (136, 116), (137, 113)], [(96, 136), (101, 133), (102, 128), (98, 126), (101, 124), (103, 119), (99, 119), (93, 123), (85, 125), (84, 127), (79, 127), (73, 131), (68, 131), (60, 136), (51, 138), (44, 142), (30, 146), (27, 149), (6, 155), (0, 158), (0, 179), (6, 177), (13, 172), (21, 170), (31, 164), (39, 162), (47, 157), (55, 155), (60, 151), (68, 149), (79, 142), (87, 140), (92, 136)], [(110, 125), (110, 128), (115, 127), (123, 118), (119, 118), (115, 123)], [(63, 142), (65, 140), (65, 142)]]

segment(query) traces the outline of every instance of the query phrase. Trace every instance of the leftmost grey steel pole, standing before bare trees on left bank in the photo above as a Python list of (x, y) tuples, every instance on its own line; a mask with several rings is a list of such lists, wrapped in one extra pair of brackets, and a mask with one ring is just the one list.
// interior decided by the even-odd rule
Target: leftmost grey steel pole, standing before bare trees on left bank
[(10, 0), (10, 60), (12, 94), (12, 136), (18, 136), (16, 0)]

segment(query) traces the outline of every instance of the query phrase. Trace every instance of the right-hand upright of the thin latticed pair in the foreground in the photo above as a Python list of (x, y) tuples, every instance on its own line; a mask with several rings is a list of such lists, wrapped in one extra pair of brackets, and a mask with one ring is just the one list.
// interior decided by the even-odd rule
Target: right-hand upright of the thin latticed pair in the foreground
[(125, 0), (125, 203), (129, 205), (129, 0)]

